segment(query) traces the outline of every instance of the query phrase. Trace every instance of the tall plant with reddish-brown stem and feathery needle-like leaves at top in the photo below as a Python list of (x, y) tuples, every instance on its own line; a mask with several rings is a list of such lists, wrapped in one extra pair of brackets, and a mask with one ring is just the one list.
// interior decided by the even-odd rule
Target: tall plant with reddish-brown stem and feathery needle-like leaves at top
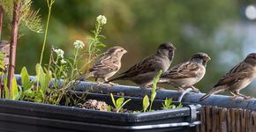
[[(8, 11), (7, 14), (10, 14), (12, 11), (12, 20), (11, 20), (11, 48), (10, 48), (10, 61), (9, 61), (9, 69), (8, 69), (8, 80), (7, 87), (9, 88), (9, 98), (11, 97), (13, 92), (12, 89), (12, 80), (14, 77), (14, 68), (16, 62), (16, 48), (18, 41), (18, 33), (19, 26), (21, 22), (24, 22), (26, 27), (30, 30), (41, 33), (41, 18), (38, 15), (38, 11), (33, 11), (31, 9), (32, 1), (31, 0), (10, 0), (9, 2), (0, 1), (1, 6)], [(13, 8), (11, 8), (13, 7)], [(9, 10), (12, 9), (12, 10)], [(6, 91), (7, 92), (7, 91)]]

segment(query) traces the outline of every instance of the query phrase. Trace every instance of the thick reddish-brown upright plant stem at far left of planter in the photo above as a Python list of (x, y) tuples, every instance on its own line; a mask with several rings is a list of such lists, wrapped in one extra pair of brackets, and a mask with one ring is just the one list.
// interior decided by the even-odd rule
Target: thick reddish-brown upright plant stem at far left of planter
[(21, 14), (21, 2), (14, 3), (13, 15), (11, 22), (11, 46), (10, 46), (10, 61), (8, 70), (8, 81), (7, 86), (9, 88), (9, 99), (12, 99), (11, 89), (12, 89), (12, 78), (14, 77), (15, 61), (16, 61), (16, 48), (18, 40), (19, 22)]

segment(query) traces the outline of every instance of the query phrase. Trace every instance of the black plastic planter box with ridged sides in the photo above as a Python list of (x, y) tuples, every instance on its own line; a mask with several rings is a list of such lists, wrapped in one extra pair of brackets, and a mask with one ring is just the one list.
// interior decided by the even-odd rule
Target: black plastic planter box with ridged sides
[[(108, 95), (88, 94), (87, 99), (103, 100), (111, 104)], [(141, 108), (142, 99), (130, 99), (132, 100), (126, 104), (126, 108)], [(153, 107), (159, 108), (161, 103), (161, 100), (156, 100)], [(183, 105), (184, 107), (178, 109), (117, 114), (78, 107), (0, 99), (0, 131), (189, 131), (190, 127), (200, 124), (198, 121), (200, 105), (186, 103)]]

